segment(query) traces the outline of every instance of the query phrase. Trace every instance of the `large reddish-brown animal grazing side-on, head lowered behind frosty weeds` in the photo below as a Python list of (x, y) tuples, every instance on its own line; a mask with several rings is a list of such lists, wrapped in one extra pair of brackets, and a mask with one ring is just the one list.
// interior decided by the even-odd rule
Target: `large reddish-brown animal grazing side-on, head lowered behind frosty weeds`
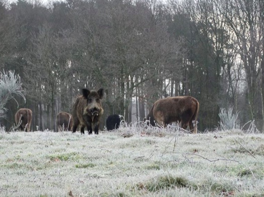
[[(166, 127), (173, 122), (179, 122), (180, 127), (186, 129), (189, 125), (190, 131), (197, 133), (196, 120), (199, 111), (199, 103), (192, 96), (167, 97), (156, 101), (147, 120), (152, 126)], [(193, 121), (195, 127), (193, 126)]]

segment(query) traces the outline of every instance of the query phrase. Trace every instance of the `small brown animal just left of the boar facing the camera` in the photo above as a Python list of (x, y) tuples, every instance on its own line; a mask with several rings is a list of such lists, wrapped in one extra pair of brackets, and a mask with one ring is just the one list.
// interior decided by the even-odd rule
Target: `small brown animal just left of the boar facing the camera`
[(72, 115), (66, 112), (60, 112), (57, 114), (56, 123), (58, 131), (71, 131), (72, 128)]

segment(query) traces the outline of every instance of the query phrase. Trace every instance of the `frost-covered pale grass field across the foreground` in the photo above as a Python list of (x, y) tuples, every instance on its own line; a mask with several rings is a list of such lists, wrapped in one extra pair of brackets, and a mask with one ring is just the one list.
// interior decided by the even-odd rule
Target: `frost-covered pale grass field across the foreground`
[[(130, 129), (129, 129), (130, 128)], [(0, 132), (0, 196), (263, 196), (264, 135)]]

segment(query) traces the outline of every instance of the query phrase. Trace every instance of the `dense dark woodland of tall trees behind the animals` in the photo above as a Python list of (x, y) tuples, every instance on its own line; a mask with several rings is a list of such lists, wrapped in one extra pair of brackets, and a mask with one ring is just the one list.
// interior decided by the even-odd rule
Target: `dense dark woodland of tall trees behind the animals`
[(263, 32), (262, 0), (0, 0), (0, 70), (20, 75), (26, 97), (1, 123), (14, 124), (19, 104), (33, 130), (56, 130), (81, 88), (102, 87), (101, 128), (110, 114), (142, 121), (158, 99), (191, 95), (201, 132), (230, 106), (240, 126), (263, 130)]

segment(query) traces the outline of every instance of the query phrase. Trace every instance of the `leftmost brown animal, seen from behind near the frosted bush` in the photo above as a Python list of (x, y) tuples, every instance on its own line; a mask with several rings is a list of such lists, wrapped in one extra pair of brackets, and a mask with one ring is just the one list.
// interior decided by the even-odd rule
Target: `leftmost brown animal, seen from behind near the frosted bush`
[(21, 131), (30, 131), (32, 122), (32, 111), (27, 108), (20, 109), (15, 115), (15, 121), (19, 125)]

